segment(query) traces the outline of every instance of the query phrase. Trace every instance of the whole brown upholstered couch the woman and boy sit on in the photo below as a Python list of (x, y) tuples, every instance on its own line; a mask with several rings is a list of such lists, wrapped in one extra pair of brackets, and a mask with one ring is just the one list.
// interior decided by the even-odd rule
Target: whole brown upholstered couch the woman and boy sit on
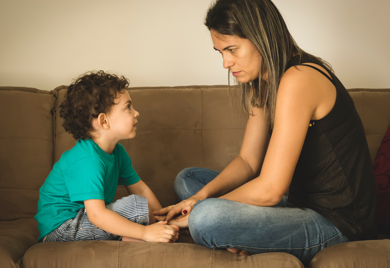
[[(0, 87), (0, 267), (303, 267), (287, 253), (249, 257), (191, 243), (79, 241), (39, 243), (38, 190), (75, 140), (58, 106), (66, 87), (50, 92)], [(351, 89), (372, 158), (390, 123), (390, 89)], [(140, 112), (134, 139), (122, 144), (163, 206), (174, 204), (173, 181), (190, 166), (222, 170), (237, 154), (245, 120), (229, 104), (227, 86), (131, 88)], [(126, 194), (118, 188), (117, 198)], [(344, 243), (318, 253), (310, 267), (390, 267), (390, 240)], [(387, 237), (389, 238), (389, 237)], [(181, 242), (191, 242), (181, 238)]]

